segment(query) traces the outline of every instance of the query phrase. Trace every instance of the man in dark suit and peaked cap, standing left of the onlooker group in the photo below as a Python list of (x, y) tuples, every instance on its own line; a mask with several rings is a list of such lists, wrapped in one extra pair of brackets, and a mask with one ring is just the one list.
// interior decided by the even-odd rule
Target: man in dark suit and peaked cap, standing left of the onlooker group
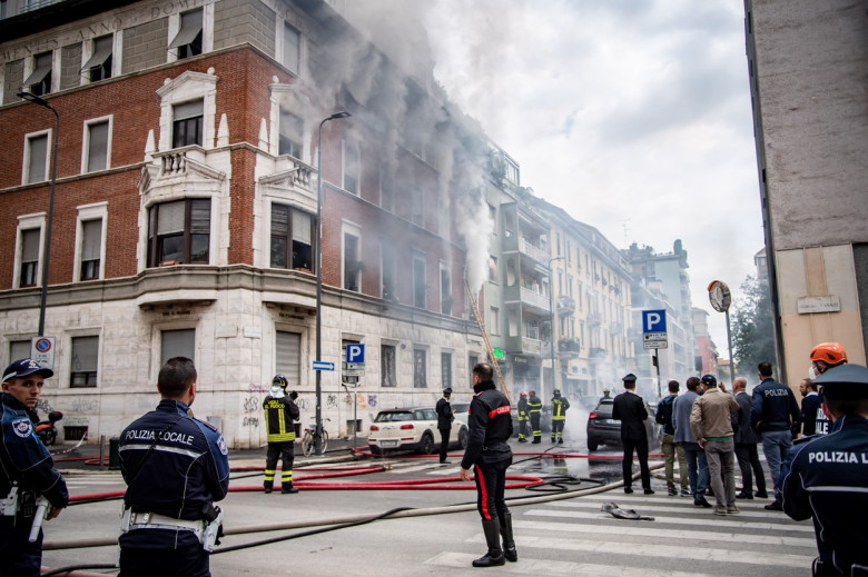
[(621, 421), (621, 444), (624, 447), (624, 458), (621, 467), (624, 476), (624, 493), (633, 493), (633, 451), (639, 458), (639, 470), (642, 476), (642, 488), (645, 495), (651, 495), (651, 471), (648, 468), (648, 432), (645, 421), (648, 409), (642, 397), (635, 394), (635, 375), (625, 376), (624, 392), (614, 398), (612, 418)]

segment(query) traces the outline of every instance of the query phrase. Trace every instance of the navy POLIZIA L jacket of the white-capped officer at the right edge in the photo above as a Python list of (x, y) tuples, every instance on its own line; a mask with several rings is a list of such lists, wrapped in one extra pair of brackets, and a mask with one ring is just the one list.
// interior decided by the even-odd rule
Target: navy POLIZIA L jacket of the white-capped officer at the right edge
[(783, 479), (783, 511), (813, 517), (820, 558), (844, 575), (868, 570), (868, 419), (850, 415), (835, 431), (799, 446)]

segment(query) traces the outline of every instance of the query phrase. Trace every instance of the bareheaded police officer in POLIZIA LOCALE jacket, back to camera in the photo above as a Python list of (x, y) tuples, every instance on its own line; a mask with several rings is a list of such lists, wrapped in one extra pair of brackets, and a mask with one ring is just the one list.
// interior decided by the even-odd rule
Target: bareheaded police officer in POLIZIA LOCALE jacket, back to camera
[(157, 377), (157, 409), (120, 435), (121, 577), (210, 575), (221, 520), (214, 501), (229, 489), (229, 459), (217, 429), (189, 415), (196, 379), (190, 359), (169, 359)]

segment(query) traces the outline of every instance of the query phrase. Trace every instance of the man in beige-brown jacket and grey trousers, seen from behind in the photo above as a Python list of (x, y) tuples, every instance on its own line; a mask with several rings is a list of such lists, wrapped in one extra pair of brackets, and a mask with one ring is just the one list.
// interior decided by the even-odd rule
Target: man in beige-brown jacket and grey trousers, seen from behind
[(736, 445), (730, 414), (739, 410), (739, 404), (732, 395), (718, 388), (718, 380), (711, 375), (702, 377), (700, 387), (704, 394), (693, 402), (690, 430), (706, 450), (709, 480), (717, 500), (714, 515), (736, 514), (739, 513), (736, 507)]

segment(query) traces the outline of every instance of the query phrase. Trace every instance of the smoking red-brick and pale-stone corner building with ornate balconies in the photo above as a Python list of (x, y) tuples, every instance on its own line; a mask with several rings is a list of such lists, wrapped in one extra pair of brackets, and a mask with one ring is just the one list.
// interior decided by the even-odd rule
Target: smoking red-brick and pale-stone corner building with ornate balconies
[[(490, 146), (322, 0), (16, 2), (0, 19), (0, 362), (38, 332), (57, 161), (43, 410), (112, 436), (172, 356), (197, 416), (264, 442), (283, 372), (313, 418), (318, 130), (323, 359), (366, 345), (357, 389), (323, 375), (332, 435), (430, 405), (484, 358), (463, 297)], [(50, 110), (17, 97), (21, 90)], [(320, 123), (337, 110), (349, 118)], [(52, 145), (58, 139), (57, 157)], [(471, 276), (470, 273), (467, 276)], [(479, 287), (477, 287), (479, 288)], [(458, 297), (461, 296), (461, 297)], [(358, 409), (354, 422), (353, 408)]]

